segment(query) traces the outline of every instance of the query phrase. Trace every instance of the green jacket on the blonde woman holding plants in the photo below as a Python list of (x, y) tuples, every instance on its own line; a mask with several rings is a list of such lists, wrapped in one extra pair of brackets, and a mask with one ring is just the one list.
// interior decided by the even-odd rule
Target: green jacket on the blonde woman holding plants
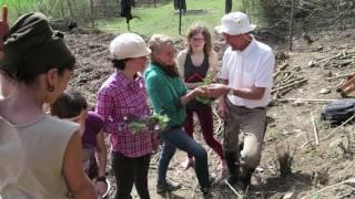
[(180, 100), (187, 92), (183, 81), (179, 77), (169, 76), (154, 64), (150, 64), (145, 70), (144, 78), (154, 112), (166, 114), (170, 118), (168, 128), (183, 125), (186, 112), (184, 106), (180, 106)]

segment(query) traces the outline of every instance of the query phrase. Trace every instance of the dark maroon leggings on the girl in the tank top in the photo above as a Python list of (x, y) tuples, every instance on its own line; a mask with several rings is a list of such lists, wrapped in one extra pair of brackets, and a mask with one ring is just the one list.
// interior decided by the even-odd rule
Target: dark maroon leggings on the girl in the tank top
[[(223, 149), (220, 142), (217, 142), (213, 137), (213, 114), (212, 114), (212, 107), (205, 106), (200, 107), (196, 109), (190, 109), (186, 108), (186, 121), (184, 124), (186, 133), (193, 137), (193, 113), (196, 113), (200, 125), (201, 125), (201, 132), (203, 135), (204, 140), (206, 144), (223, 159)], [(189, 157), (192, 157), (191, 154), (189, 154)]]

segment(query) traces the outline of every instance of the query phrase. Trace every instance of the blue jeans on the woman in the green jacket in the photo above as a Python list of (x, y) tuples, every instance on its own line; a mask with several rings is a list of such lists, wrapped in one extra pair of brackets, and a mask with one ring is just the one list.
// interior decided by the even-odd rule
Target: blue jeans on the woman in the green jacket
[(195, 172), (201, 188), (210, 187), (206, 150), (193, 140), (181, 127), (171, 128), (160, 134), (164, 142), (158, 166), (158, 184), (166, 179), (166, 171), (176, 148), (191, 154), (195, 158)]

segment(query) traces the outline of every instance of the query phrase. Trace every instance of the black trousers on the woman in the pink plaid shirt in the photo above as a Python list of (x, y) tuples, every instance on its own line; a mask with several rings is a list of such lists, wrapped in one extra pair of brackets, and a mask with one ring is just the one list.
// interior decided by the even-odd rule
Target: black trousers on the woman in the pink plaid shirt
[(150, 199), (148, 189), (150, 161), (151, 155), (130, 158), (120, 153), (112, 153), (112, 169), (116, 181), (115, 199), (131, 198), (133, 184), (141, 199)]

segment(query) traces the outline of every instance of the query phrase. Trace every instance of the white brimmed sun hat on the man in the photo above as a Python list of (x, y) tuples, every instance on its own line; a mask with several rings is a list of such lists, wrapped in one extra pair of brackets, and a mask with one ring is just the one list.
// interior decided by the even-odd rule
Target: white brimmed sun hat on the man
[(225, 14), (222, 20), (222, 24), (214, 29), (221, 33), (227, 33), (231, 35), (244, 34), (253, 31), (256, 25), (251, 24), (247, 15), (243, 12), (232, 12)]

